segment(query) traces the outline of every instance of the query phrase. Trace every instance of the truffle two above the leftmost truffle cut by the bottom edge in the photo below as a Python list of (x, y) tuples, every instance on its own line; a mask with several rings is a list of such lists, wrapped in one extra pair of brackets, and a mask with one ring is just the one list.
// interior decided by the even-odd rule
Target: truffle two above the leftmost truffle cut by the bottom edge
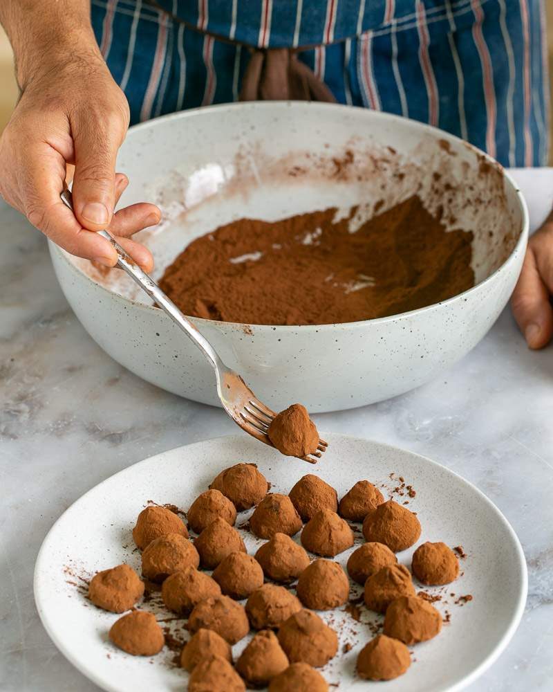
[(250, 623), (243, 605), (228, 596), (216, 596), (194, 606), (187, 628), (192, 633), (200, 628), (213, 630), (229, 644), (236, 644), (250, 631)]

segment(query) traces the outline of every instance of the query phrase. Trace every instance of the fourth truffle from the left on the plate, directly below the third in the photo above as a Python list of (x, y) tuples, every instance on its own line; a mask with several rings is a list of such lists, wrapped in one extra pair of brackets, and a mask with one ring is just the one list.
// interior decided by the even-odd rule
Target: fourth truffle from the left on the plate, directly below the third
[(200, 556), (191, 541), (180, 534), (154, 538), (142, 553), (142, 574), (150, 581), (161, 582), (186, 567), (198, 567)]

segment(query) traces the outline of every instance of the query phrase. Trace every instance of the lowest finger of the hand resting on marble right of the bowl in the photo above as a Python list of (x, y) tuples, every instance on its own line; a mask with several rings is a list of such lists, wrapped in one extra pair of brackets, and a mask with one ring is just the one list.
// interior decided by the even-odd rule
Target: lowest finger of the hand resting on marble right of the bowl
[(511, 299), (514, 318), (528, 346), (543, 348), (553, 335), (553, 308), (550, 291), (543, 282), (534, 249), (527, 250), (523, 270)]

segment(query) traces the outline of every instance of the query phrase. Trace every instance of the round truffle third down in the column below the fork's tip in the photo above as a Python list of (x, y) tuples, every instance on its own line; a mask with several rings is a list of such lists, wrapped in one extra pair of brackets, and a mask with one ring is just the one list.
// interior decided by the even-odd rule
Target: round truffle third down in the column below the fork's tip
[(296, 592), (306, 608), (330, 610), (346, 603), (350, 581), (338, 563), (315, 560), (301, 572)]

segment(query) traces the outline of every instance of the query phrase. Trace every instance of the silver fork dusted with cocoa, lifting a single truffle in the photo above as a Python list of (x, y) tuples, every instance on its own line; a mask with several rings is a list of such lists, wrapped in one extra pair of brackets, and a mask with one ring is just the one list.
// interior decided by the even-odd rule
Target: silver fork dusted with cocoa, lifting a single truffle
[[(61, 197), (64, 204), (73, 211), (71, 192), (64, 190)], [(267, 432), (272, 419), (276, 416), (275, 412), (265, 406), (262, 401), (259, 401), (238, 373), (223, 363), (205, 336), (200, 334), (192, 322), (176, 307), (176, 304), (165, 295), (158, 284), (146, 272), (142, 271), (138, 264), (133, 262), (132, 258), (115, 242), (115, 239), (106, 230), (98, 231), (98, 235), (109, 240), (115, 248), (118, 254), (117, 266), (122, 268), (156, 302), (158, 307), (169, 315), (171, 320), (185, 332), (211, 363), (215, 370), (218, 397), (232, 420), (255, 439), (274, 447)], [(328, 444), (323, 439), (319, 439), (317, 450), (312, 455), (301, 458), (310, 464), (316, 464), (317, 459), (320, 459), (327, 446)], [(312, 457), (317, 458), (313, 459)]]

